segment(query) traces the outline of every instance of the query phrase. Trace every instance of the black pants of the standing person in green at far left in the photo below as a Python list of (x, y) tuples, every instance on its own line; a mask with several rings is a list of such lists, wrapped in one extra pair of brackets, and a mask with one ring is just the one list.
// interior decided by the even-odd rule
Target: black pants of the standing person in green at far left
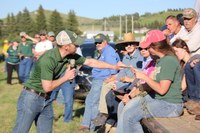
[[(7, 83), (8, 84), (12, 83), (13, 70), (17, 72), (17, 78), (19, 80), (19, 64), (13, 65), (13, 64), (6, 63), (6, 65), (7, 65)], [(19, 80), (19, 83), (21, 83), (20, 80)]]

